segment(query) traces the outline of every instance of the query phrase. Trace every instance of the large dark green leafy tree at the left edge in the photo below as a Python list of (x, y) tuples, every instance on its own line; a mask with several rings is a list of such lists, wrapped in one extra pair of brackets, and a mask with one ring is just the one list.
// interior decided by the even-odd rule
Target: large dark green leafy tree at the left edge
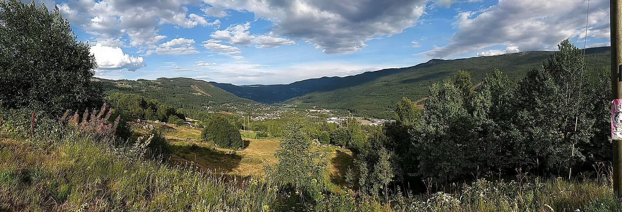
[(95, 58), (78, 42), (58, 7), (0, 1), (0, 101), (9, 108), (49, 113), (94, 107), (103, 101), (91, 82)]

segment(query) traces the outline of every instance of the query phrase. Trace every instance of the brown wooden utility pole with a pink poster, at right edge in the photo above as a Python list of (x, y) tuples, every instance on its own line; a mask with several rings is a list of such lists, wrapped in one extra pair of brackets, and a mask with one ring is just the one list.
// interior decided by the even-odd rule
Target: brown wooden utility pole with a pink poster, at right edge
[[(611, 94), (613, 99), (622, 99), (622, 78), (620, 70), (622, 68), (622, 2), (619, 0), (610, 1), (611, 16)], [(587, 38), (586, 38), (587, 39)], [(612, 101), (613, 104), (613, 101)], [(613, 105), (612, 105), (613, 106)], [(612, 109), (613, 110), (613, 109)], [(613, 115), (613, 113), (612, 113)], [(611, 119), (613, 121), (613, 117)], [(613, 129), (611, 129), (613, 132)], [(613, 193), (618, 198), (622, 194), (622, 140), (613, 140)]]

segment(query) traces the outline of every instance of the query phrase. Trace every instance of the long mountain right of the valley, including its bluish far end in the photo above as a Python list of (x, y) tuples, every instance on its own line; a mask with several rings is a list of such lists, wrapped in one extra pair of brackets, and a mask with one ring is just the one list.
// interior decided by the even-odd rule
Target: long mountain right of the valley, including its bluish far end
[[(587, 48), (585, 52), (591, 71), (609, 67), (610, 47)], [(348, 109), (364, 116), (392, 118), (391, 108), (402, 96), (413, 100), (423, 98), (432, 83), (442, 81), (458, 70), (471, 73), (475, 82), (483, 80), (494, 68), (518, 80), (527, 70), (540, 68), (552, 53), (534, 51), (455, 60), (433, 59), (414, 67), (368, 71), (345, 77), (315, 78), (289, 85), (213, 85), (239, 97), (263, 103), (285, 101), (320, 108)]]

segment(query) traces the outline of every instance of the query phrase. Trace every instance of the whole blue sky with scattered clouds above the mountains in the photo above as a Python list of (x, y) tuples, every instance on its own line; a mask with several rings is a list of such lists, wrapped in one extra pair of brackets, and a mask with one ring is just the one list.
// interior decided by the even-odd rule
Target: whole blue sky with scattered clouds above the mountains
[(608, 0), (590, 0), (588, 19), (588, 0), (40, 1), (57, 5), (91, 45), (95, 76), (112, 80), (287, 84), (557, 50), (564, 39), (610, 44)]

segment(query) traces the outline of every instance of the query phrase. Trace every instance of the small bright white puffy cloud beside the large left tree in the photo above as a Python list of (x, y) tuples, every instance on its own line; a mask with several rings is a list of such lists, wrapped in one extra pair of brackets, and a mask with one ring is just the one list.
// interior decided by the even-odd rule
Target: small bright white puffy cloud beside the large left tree
[(119, 47), (106, 47), (101, 44), (91, 46), (91, 53), (95, 55), (98, 70), (118, 70), (127, 68), (129, 71), (136, 71), (145, 67), (146, 63), (142, 57), (132, 57)]

